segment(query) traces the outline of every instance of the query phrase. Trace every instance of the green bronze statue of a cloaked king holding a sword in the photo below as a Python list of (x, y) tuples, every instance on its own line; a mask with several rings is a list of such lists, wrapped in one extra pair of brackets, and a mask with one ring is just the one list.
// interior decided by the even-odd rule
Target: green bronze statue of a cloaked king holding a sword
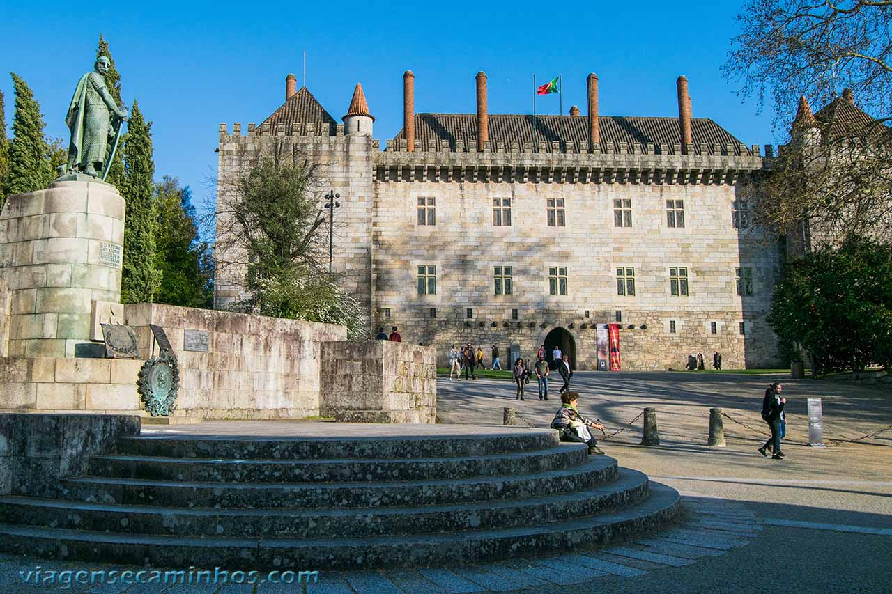
[(71, 130), (65, 174), (83, 174), (103, 181), (108, 175), (121, 128), (127, 121), (127, 107), (115, 104), (105, 86), (110, 63), (105, 56), (97, 58), (94, 71), (80, 77), (71, 97), (65, 116)]

